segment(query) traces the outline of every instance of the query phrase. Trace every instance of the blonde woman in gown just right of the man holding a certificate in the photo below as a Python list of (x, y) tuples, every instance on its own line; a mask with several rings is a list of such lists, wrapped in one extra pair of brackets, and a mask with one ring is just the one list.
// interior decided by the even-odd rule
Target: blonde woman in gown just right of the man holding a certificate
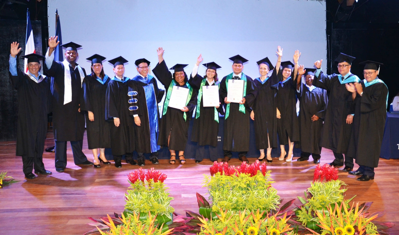
[[(281, 59), (281, 58), (280, 58)], [(281, 60), (280, 60), (281, 62)], [(259, 161), (265, 159), (265, 149), (267, 149), (266, 159), (268, 163), (273, 162), (271, 157), (272, 148), (277, 148), (277, 121), (275, 96), (277, 90), (272, 85), (279, 82), (276, 70), (271, 64), (269, 58), (257, 61), (259, 66), (259, 78), (255, 78), (257, 96), (251, 112), (251, 119), (255, 126), (256, 149), (259, 149), (261, 156)], [(277, 62), (276, 66), (280, 66)], [(267, 76), (269, 71), (273, 70), (271, 76)]]

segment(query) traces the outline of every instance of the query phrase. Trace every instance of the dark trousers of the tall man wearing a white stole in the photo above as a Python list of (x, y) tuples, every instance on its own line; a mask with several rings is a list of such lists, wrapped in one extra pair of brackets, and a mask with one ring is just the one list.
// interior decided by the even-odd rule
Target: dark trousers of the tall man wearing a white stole
[[(87, 161), (86, 155), (82, 152), (83, 140), (69, 142), (71, 142), (75, 165)], [(67, 141), (55, 141), (55, 168), (65, 167), (67, 167)]]

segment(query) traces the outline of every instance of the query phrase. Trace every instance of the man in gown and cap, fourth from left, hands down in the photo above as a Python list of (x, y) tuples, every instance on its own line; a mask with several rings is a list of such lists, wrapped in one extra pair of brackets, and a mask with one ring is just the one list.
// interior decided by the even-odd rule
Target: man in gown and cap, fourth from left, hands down
[(115, 167), (122, 167), (122, 155), (125, 155), (126, 163), (137, 165), (133, 160), (134, 119), (130, 116), (130, 111), (137, 114), (137, 89), (134, 84), (128, 88), (130, 78), (123, 76), (126, 59), (120, 56), (108, 62), (114, 65), (115, 76), (108, 82), (105, 93), (105, 120), (109, 122)]

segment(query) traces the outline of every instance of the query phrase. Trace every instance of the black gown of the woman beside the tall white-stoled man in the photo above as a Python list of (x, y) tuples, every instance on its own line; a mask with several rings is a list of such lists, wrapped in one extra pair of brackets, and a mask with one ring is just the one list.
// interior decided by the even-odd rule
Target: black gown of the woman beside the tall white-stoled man
[[(105, 93), (107, 91), (107, 78), (101, 83), (91, 74), (87, 75), (82, 84), (81, 110), (86, 111), (87, 144), (89, 149), (111, 148), (111, 135), (109, 124), (105, 121)], [(94, 121), (89, 120), (88, 111), (93, 112)]]

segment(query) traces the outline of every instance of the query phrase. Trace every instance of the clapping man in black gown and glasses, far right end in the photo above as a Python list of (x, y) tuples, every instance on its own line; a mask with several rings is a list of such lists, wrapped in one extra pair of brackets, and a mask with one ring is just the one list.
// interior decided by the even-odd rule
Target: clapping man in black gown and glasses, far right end
[(353, 130), (348, 155), (356, 159), (358, 170), (349, 174), (362, 175), (359, 181), (374, 179), (374, 168), (378, 166), (387, 117), (388, 88), (378, 78), (381, 63), (365, 61), (361, 82), (347, 83), (355, 102)]

